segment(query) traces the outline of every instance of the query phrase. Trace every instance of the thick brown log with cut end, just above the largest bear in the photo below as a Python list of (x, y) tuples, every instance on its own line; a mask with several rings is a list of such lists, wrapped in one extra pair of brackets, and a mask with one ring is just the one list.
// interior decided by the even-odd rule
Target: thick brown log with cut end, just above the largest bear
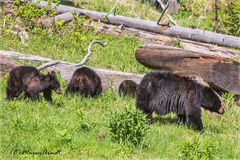
[(240, 63), (215, 55), (201, 54), (163, 45), (144, 45), (135, 57), (142, 65), (177, 73), (199, 76), (218, 91), (240, 95)]

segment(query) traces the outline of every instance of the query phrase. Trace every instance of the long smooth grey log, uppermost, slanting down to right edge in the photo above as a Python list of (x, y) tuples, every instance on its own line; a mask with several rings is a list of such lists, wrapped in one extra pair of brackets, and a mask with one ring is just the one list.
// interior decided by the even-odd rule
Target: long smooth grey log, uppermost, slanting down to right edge
[[(0, 0), (2, 1), (2, 0)], [(32, 0), (31, 2), (38, 2), (38, 0)], [(39, 7), (49, 8), (48, 2), (40, 1)], [(240, 37), (234, 37), (230, 35), (224, 35), (219, 33), (214, 33), (210, 31), (192, 29), (180, 26), (165, 26), (157, 24), (153, 21), (135, 19), (130, 17), (118, 16), (118, 15), (108, 15), (108, 20), (105, 16), (107, 13), (91, 11), (86, 9), (79, 9), (76, 7), (69, 7), (65, 5), (56, 5), (52, 3), (52, 7), (57, 13), (66, 13), (75, 11), (77, 14), (83, 14), (91, 17), (93, 20), (101, 21), (104, 23), (111, 23), (115, 25), (123, 25), (130, 28), (141, 29), (144, 31), (150, 31), (155, 33), (160, 33), (168, 36), (174, 36), (194, 41), (213, 43), (223, 46), (240, 48)]]

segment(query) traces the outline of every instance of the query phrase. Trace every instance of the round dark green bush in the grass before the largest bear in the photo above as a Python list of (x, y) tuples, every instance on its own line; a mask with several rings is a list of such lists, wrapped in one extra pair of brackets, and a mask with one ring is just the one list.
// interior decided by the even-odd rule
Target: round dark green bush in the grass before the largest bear
[(113, 113), (110, 118), (112, 139), (120, 144), (139, 144), (147, 133), (146, 116), (135, 108), (126, 107), (121, 113)]

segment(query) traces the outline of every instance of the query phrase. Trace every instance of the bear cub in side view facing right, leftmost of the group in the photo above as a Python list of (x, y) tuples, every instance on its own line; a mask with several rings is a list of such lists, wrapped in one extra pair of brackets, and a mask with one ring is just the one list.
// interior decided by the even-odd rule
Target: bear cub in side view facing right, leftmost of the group
[(54, 71), (42, 74), (35, 67), (18, 66), (9, 73), (6, 95), (10, 100), (24, 91), (27, 97), (34, 99), (43, 92), (45, 100), (52, 102), (52, 90), (61, 94), (60, 83)]

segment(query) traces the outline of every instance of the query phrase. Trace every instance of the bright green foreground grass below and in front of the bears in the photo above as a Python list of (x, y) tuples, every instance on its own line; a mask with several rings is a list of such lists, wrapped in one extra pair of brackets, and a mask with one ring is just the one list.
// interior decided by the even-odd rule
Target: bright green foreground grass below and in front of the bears
[[(203, 113), (205, 132), (200, 134), (177, 124), (173, 114), (155, 117), (143, 143), (121, 146), (111, 141), (110, 114), (135, 106), (135, 100), (121, 98), (109, 89), (98, 98), (53, 95), (54, 104), (44, 100), (19, 98), (5, 100), (6, 77), (0, 86), (0, 159), (176, 159), (184, 144), (199, 138), (201, 145), (210, 141), (217, 159), (240, 158), (240, 109), (228, 107), (223, 116)], [(61, 80), (63, 89), (66, 82)], [(102, 133), (105, 139), (99, 140)], [(185, 147), (186, 148), (186, 147)], [(11, 154), (15, 149), (41, 152), (45, 149), (58, 155)]]

